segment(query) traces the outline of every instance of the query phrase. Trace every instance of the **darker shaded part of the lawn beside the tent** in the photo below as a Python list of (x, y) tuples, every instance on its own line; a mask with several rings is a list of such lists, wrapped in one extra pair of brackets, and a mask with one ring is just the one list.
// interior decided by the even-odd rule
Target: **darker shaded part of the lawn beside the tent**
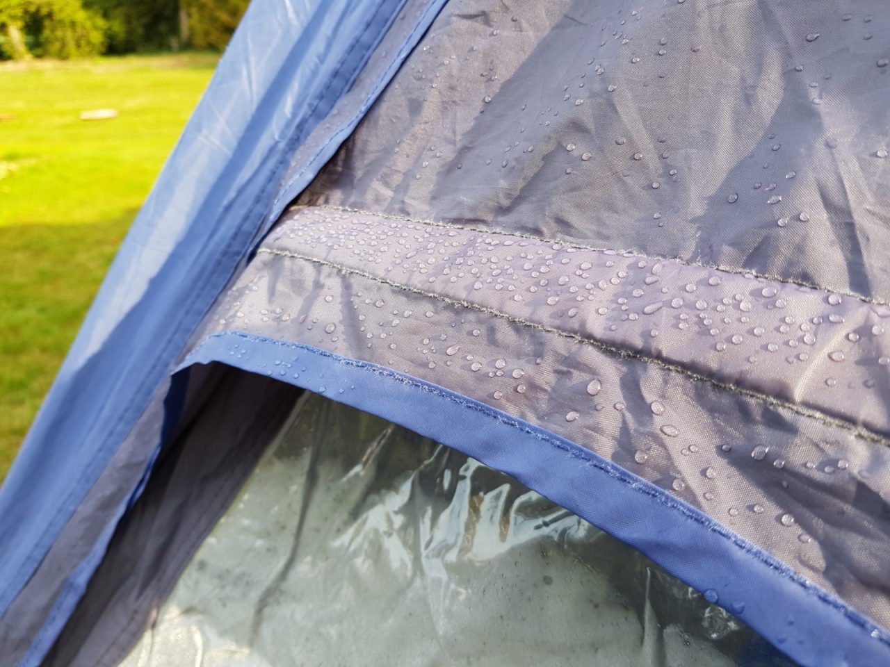
[(0, 480), (137, 211), (90, 225), (0, 227)]

